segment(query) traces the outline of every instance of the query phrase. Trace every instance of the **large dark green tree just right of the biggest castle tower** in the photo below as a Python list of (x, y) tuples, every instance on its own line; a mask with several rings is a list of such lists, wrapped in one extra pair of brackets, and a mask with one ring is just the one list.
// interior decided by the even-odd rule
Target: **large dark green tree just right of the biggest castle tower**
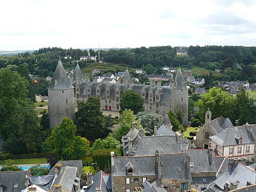
[(94, 141), (97, 138), (108, 136), (111, 132), (110, 127), (103, 126), (103, 122), (99, 98), (89, 97), (85, 103), (79, 102), (78, 111), (75, 114), (75, 124), (77, 133), (81, 137)]

